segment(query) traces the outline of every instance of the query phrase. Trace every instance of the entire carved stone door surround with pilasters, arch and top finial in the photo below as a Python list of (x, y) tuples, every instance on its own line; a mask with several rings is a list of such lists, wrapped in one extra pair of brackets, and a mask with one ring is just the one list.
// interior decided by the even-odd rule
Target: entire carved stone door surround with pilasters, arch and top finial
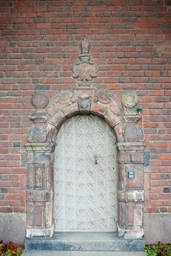
[(89, 42), (84, 38), (80, 45), (80, 60), (73, 69), (77, 87), (56, 91), (51, 99), (41, 91), (32, 96), (31, 104), (36, 112), (31, 117), (34, 124), (26, 143), (27, 238), (53, 236), (53, 152), (56, 135), (64, 121), (84, 114), (104, 118), (117, 139), (118, 236), (142, 238), (144, 234), (145, 143), (142, 129), (137, 124), (140, 116), (133, 110), (137, 94), (134, 91), (123, 92), (121, 100), (114, 91), (96, 89), (91, 86), (96, 72)]

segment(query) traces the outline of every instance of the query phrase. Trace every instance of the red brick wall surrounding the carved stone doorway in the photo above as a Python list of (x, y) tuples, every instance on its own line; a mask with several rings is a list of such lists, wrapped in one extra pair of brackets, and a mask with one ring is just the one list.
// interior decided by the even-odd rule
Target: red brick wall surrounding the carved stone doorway
[(98, 88), (135, 89), (144, 108), (145, 211), (171, 212), (170, 0), (0, 1), (0, 212), (26, 211), (31, 94), (70, 89), (86, 34)]

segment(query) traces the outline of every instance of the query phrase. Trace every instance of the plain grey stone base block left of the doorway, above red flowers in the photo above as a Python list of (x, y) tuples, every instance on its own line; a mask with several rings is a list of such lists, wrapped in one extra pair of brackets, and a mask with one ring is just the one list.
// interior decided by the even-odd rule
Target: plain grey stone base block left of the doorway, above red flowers
[(26, 214), (0, 214), (0, 238), (4, 243), (12, 241), (24, 244), (26, 238)]

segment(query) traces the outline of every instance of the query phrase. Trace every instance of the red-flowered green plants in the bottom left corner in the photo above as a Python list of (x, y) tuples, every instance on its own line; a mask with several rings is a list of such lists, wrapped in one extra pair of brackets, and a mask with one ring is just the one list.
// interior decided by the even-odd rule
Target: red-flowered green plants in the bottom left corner
[(19, 244), (13, 244), (11, 241), (9, 244), (4, 244), (0, 241), (0, 256), (20, 256), (22, 254), (22, 249)]

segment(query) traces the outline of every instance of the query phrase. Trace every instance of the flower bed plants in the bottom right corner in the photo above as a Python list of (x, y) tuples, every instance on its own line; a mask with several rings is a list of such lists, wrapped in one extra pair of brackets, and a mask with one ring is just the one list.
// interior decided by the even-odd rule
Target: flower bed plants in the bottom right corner
[(145, 252), (148, 256), (171, 256), (171, 244), (149, 244), (145, 246)]

